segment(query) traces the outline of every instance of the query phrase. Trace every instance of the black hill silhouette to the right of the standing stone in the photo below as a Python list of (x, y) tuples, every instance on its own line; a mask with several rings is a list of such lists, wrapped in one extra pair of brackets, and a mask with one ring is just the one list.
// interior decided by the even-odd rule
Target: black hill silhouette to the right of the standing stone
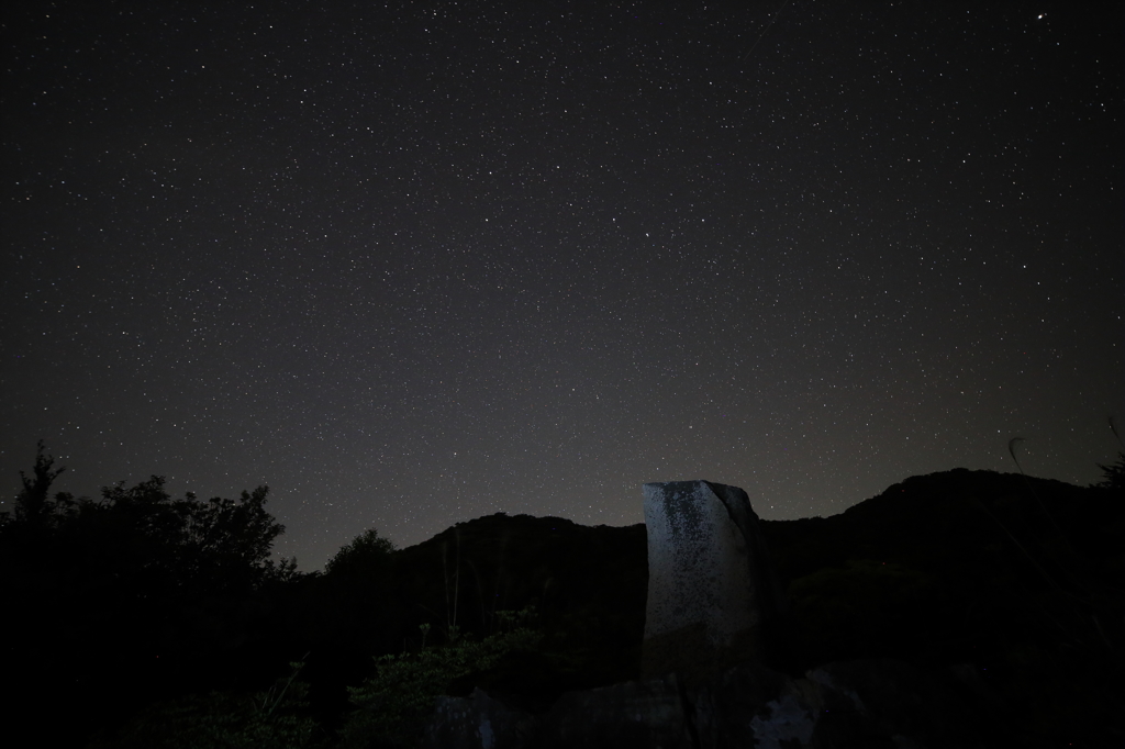
[(1125, 502), (1109, 486), (956, 469), (765, 532), (801, 667), (953, 669), (1004, 706), (1001, 733), (1022, 746), (1080, 734), (1076, 715), (1099, 734), (1125, 704)]

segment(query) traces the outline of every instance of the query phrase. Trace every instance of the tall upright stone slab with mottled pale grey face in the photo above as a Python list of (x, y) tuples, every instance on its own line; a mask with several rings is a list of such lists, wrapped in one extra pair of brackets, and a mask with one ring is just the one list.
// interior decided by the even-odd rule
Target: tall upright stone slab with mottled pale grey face
[(676, 671), (692, 685), (724, 665), (760, 659), (781, 596), (746, 493), (708, 481), (646, 484), (645, 524), (641, 676)]

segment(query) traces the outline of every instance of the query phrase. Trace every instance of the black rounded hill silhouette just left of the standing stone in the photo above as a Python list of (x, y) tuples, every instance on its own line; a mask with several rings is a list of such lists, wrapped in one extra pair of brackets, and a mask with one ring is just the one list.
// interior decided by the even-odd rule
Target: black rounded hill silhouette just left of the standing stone
[[(636, 678), (648, 592), (645, 526), (585, 526), (560, 517), (489, 515), (396, 556), (398, 595), (416, 617), (495, 630), (494, 613), (534, 606), (560, 648), (588, 656), (592, 682)], [(460, 559), (460, 579), (456, 577)], [(435, 617), (436, 615), (436, 617)]]

